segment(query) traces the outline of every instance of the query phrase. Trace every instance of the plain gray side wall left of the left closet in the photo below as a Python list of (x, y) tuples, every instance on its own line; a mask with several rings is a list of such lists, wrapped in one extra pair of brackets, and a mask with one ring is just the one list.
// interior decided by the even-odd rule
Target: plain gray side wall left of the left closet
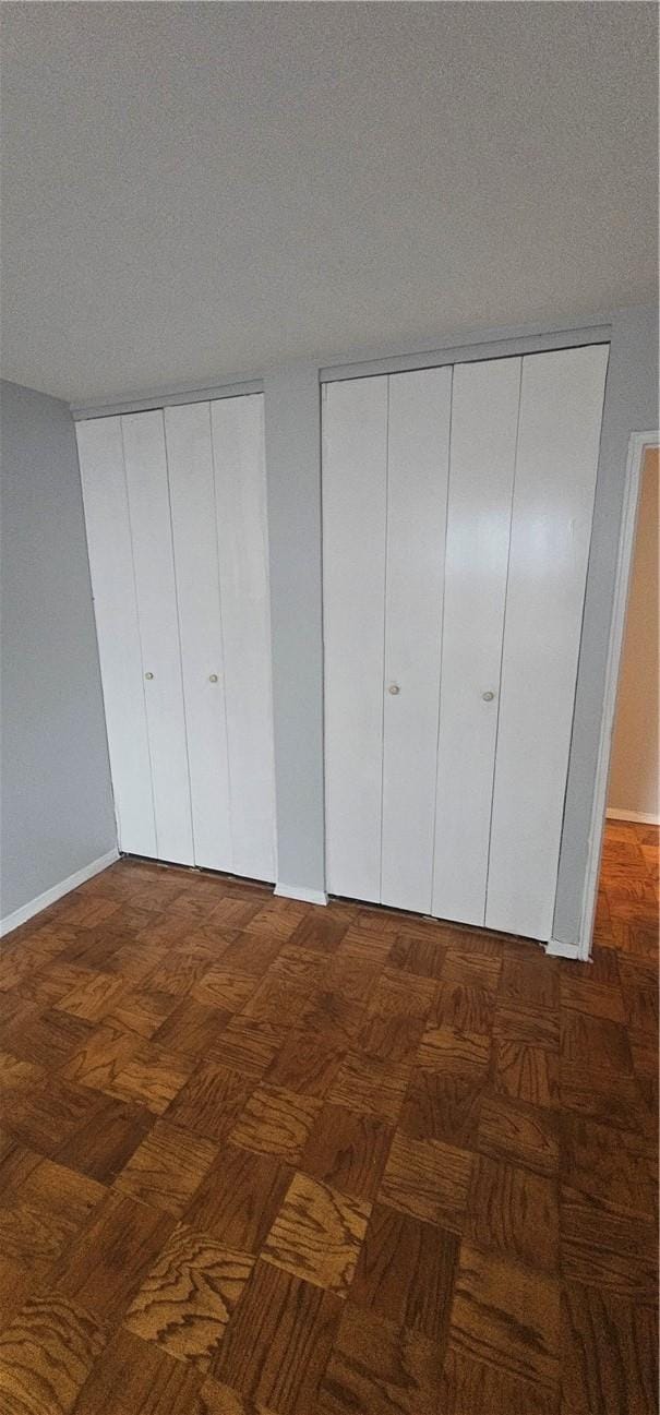
[(116, 846), (74, 422), (3, 382), (0, 916)]

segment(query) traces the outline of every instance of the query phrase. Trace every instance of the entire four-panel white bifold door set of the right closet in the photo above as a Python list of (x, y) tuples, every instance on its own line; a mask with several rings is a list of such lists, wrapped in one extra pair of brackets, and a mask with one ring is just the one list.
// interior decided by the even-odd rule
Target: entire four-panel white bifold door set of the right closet
[(333, 893), (551, 937), (606, 365), (327, 389)]

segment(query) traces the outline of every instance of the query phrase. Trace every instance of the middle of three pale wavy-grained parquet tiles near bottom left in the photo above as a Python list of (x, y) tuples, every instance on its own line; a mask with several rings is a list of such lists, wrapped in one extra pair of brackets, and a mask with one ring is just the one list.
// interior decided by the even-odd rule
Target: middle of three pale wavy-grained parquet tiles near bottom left
[(208, 1373), (254, 1264), (181, 1224), (133, 1298), (125, 1326)]

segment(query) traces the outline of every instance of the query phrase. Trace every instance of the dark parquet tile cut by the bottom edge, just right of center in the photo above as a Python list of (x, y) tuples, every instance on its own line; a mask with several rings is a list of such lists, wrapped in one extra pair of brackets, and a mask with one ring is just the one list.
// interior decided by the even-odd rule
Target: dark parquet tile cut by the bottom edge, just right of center
[(442, 1356), (433, 1341), (351, 1303), (320, 1384), (320, 1415), (438, 1415)]

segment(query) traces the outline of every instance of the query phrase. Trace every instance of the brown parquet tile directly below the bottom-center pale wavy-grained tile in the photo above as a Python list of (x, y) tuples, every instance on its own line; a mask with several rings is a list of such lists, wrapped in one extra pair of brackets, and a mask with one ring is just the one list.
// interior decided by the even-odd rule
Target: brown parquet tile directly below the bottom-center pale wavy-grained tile
[(346, 1302), (258, 1262), (211, 1374), (278, 1411), (310, 1415)]

